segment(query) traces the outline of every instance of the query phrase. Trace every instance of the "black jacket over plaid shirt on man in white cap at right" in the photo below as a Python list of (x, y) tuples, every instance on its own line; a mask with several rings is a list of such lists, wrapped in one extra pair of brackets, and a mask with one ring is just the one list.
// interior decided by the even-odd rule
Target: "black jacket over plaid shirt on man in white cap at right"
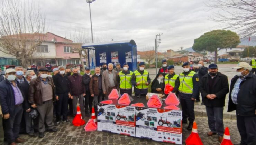
[(237, 94), (237, 105), (231, 99), (231, 93), (234, 85), (239, 77), (236, 75), (231, 80), (228, 112), (236, 110), (240, 116), (256, 116), (256, 76), (250, 74), (241, 82), (239, 92)]

